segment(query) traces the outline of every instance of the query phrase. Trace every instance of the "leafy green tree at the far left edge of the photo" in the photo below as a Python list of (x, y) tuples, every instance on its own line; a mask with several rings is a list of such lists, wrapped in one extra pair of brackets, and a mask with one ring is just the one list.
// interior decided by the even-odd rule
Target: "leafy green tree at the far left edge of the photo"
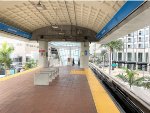
[(11, 53), (14, 51), (12, 46), (9, 46), (6, 42), (2, 43), (0, 48), (0, 63), (4, 65), (5, 75), (7, 76), (7, 69), (10, 68), (12, 60), (10, 58)]

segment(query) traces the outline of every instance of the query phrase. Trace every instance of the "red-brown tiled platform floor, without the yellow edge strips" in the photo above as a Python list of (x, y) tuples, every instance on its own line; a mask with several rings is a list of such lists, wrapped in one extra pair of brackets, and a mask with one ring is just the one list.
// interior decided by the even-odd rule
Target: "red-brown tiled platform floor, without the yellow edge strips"
[(60, 68), (50, 86), (34, 86), (33, 72), (0, 82), (0, 113), (96, 113), (86, 76), (71, 69)]

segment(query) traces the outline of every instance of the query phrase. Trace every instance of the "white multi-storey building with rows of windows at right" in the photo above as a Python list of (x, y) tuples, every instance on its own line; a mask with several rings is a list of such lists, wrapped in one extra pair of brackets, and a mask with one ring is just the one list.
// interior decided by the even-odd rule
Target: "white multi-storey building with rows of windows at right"
[(119, 67), (147, 70), (150, 64), (150, 29), (149, 26), (130, 33), (120, 40), (123, 41), (122, 51), (113, 53), (113, 61)]

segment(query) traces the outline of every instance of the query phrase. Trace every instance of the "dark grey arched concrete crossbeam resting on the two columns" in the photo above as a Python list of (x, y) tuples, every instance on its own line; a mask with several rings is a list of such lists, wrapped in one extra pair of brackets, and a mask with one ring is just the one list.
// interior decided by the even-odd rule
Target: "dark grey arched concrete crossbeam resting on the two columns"
[(60, 29), (54, 29), (51, 26), (43, 27), (32, 32), (32, 40), (46, 40), (46, 41), (77, 41), (84, 42), (98, 41), (96, 39), (96, 32), (93, 30), (75, 26), (75, 25), (61, 25)]

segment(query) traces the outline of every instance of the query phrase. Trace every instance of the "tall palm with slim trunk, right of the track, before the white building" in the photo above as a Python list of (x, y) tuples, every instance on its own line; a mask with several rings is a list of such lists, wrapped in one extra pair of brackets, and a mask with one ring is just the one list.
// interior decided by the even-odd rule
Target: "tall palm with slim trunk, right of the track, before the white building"
[(115, 41), (111, 41), (107, 44), (102, 44), (103, 47), (106, 47), (109, 49), (110, 51), (110, 57), (109, 57), (109, 74), (110, 74), (110, 70), (112, 69), (112, 54), (114, 50), (120, 51), (122, 50), (122, 46), (123, 46), (123, 42), (121, 40), (115, 40)]

